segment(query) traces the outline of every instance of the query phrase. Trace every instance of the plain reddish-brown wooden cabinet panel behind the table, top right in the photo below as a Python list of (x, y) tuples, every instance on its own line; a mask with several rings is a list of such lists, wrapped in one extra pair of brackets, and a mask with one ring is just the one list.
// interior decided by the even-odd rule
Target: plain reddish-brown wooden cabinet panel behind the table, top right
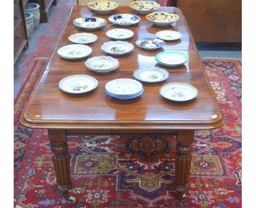
[(242, 42), (241, 0), (177, 0), (196, 42)]

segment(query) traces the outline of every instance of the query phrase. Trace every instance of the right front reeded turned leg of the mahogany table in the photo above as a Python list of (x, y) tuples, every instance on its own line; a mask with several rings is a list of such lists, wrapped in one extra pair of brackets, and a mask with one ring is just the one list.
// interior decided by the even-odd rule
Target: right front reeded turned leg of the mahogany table
[(179, 200), (188, 188), (188, 177), (191, 164), (191, 151), (193, 150), (194, 130), (181, 130), (177, 134), (175, 154), (175, 185)]

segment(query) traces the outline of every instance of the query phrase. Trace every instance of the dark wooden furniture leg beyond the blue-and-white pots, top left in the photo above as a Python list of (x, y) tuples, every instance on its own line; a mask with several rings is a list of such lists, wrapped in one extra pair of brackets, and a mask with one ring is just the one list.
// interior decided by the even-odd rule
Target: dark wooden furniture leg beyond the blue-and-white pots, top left
[(40, 22), (48, 22), (48, 12), (51, 4), (56, 5), (58, 0), (31, 0), (30, 2), (40, 5)]

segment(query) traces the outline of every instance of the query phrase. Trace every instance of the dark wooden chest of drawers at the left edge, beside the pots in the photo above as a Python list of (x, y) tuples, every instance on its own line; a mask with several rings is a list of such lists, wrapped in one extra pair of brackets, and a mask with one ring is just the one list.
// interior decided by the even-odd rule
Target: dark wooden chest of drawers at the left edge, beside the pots
[(22, 50), (28, 47), (25, 14), (22, 0), (14, 0), (14, 64)]

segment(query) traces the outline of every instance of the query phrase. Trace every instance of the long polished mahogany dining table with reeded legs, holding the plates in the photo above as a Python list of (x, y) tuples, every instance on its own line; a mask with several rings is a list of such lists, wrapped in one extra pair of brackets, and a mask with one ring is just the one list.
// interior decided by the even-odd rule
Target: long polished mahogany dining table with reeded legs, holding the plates
[[(175, 186), (178, 198), (182, 200), (188, 188), (191, 151), (195, 130), (214, 129), (224, 123), (212, 88), (202, 68), (193, 36), (180, 9), (160, 7), (156, 11), (175, 11), (180, 19), (167, 28), (153, 25), (146, 16), (138, 15), (141, 21), (128, 27), (134, 36), (125, 41), (135, 45), (134, 50), (118, 58), (120, 66), (107, 74), (97, 74), (85, 66), (85, 61), (94, 56), (108, 56), (101, 50), (104, 42), (110, 41), (107, 30), (118, 28), (109, 22), (110, 15), (98, 15), (85, 5), (74, 5), (62, 29), (60, 38), (22, 114), (21, 123), (30, 128), (47, 129), (53, 152), (53, 164), (57, 187), (63, 197), (71, 199), (68, 190), (72, 187), (69, 154), (66, 136), (69, 134), (176, 134)], [(118, 7), (112, 14), (135, 14), (130, 7)], [(92, 31), (97, 35), (90, 56), (79, 60), (68, 60), (58, 56), (57, 50), (71, 44), (68, 36), (86, 32), (73, 25), (80, 16), (98, 16), (107, 21), (100, 29)], [(182, 38), (166, 41), (166, 45), (154, 51), (136, 47), (135, 41), (155, 38), (160, 30), (175, 30)], [(180, 51), (188, 54), (189, 60), (181, 66), (169, 67), (158, 64), (155, 55), (162, 51)], [(170, 76), (159, 84), (143, 84), (142, 96), (132, 100), (118, 100), (109, 97), (105, 84), (116, 78), (133, 78), (134, 70), (158, 66), (166, 69)], [(71, 75), (89, 75), (98, 80), (98, 87), (83, 95), (67, 94), (59, 88), (62, 78)], [(182, 82), (193, 85), (199, 91), (197, 97), (188, 102), (172, 102), (159, 94), (162, 85)]]

